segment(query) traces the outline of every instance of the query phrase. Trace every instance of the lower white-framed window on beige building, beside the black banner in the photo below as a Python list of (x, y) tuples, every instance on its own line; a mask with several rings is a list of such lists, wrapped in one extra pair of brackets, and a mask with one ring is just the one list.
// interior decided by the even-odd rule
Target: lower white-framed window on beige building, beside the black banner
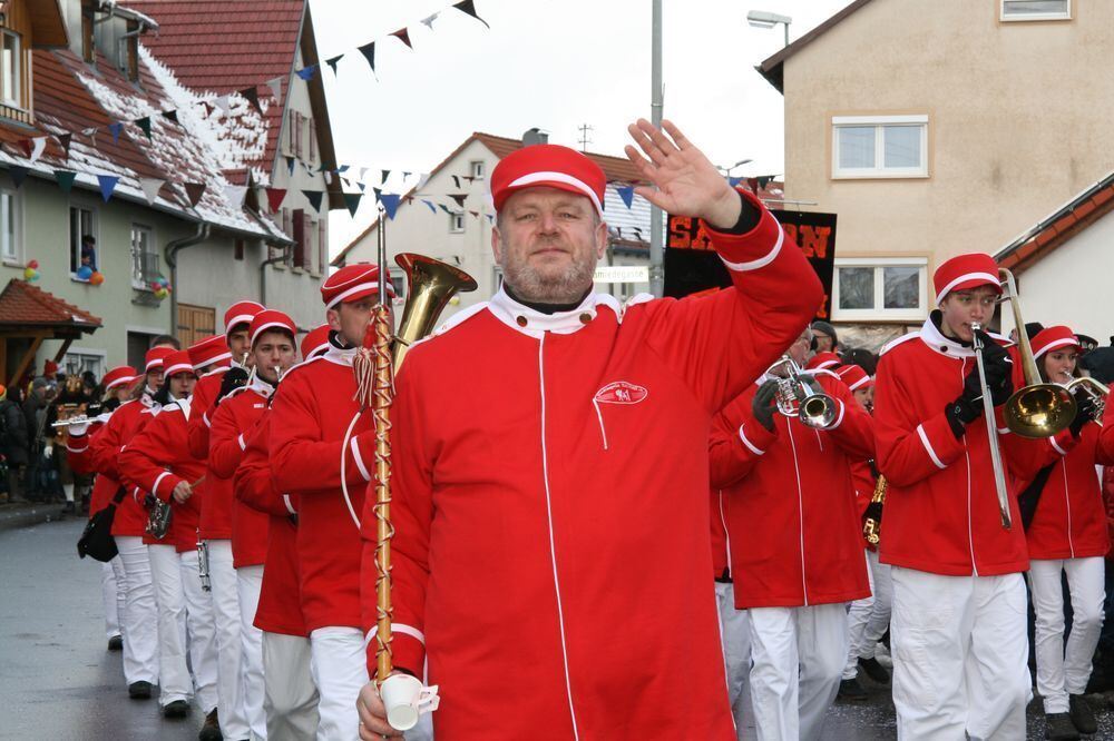
[(836, 258), (832, 318), (920, 320), (928, 315), (924, 257)]

